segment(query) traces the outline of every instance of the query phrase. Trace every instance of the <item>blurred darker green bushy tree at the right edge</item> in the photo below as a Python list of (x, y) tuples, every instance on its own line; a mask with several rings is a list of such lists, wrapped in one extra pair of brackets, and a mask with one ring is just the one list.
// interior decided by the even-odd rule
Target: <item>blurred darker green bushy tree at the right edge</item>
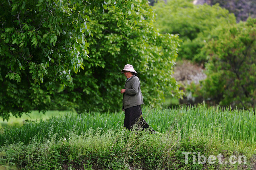
[(209, 58), (207, 79), (195, 93), (216, 104), (255, 107), (255, 50), (256, 19), (213, 31), (202, 51)]

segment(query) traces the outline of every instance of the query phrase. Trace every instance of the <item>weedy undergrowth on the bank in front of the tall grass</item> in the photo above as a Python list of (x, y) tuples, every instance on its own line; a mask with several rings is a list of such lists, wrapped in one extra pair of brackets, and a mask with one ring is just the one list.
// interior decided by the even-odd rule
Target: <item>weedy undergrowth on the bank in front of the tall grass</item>
[[(213, 128), (214, 129), (214, 128)], [(162, 134), (150, 134), (147, 131), (129, 131), (118, 129), (97, 128), (87, 129), (80, 135), (77, 127), (69, 130), (65, 137), (57, 138), (50, 133), (49, 138), (38, 141), (31, 139), (27, 145), (23, 142), (4, 144), (0, 147), (0, 167), (15, 165), (20, 169), (198, 169), (203, 164), (185, 164), (182, 152), (201, 152), (202, 155), (224, 154), (245, 155), (250, 160), (255, 153), (253, 147), (232, 146), (225, 140), (205, 137), (193, 128), (188, 137), (181, 137), (176, 129), (169, 129)], [(217, 133), (212, 135), (218, 136)], [(210, 165), (214, 169), (218, 163)], [(249, 161), (247, 162), (249, 165)], [(225, 165), (227, 169), (230, 165)], [(236, 166), (232, 165), (234, 169)], [(70, 168), (70, 169), (71, 169)]]

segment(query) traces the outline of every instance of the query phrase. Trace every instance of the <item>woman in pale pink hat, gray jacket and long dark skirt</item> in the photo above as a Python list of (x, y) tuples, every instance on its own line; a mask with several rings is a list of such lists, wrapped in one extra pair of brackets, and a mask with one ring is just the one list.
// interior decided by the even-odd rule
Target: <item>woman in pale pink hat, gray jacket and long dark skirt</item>
[(151, 132), (155, 132), (152, 128), (149, 128), (142, 117), (141, 104), (143, 104), (143, 98), (137, 72), (133, 69), (131, 64), (126, 64), (124, 69), (121, 70), (121, 73), (127, 78), (125, 88), (121, 90), (121, 94), (123, 94), (122, 110), (125, 112), (123, 126), (131, 130), (133, 125), (137, 124), (143, 129), (148, 128)]

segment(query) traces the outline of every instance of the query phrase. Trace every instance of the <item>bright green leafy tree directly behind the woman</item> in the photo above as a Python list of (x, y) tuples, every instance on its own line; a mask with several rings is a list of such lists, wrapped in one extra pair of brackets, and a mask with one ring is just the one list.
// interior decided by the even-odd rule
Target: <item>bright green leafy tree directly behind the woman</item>
[[(137, 25), (128, 21), (115, 26), (119, 12), (107, 8), (105, 14), (90, 15), (92, 33), (90, 58), (84, 59), (84, 71), (74, 76), (74, 86), (55, 95), (55, 101), (74, 101), (77, 112), (120, 109), (125, 76), (124, 65), (132, 64), (138, 72), (145, 104), (154, 99), (160, 103), (164, 95), (180, 95), (172, 67), (177, 57), (177, 35), (162, 35), (152, 26), (154, 12), (147, 4), (137, 3), (132, 15)], [(131, 22), (131, 21), (130, 21)], [(66, 95), (72, 94), (72, 95)], [(68, 103), (67, 103), (68, 105)]]

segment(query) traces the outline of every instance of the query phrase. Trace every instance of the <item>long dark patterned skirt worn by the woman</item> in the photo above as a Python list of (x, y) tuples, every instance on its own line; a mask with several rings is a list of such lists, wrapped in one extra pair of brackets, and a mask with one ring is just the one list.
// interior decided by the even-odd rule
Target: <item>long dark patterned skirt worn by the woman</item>
[(125, 109), (125, 119), (123, 126), (129, 130), (133, 129), (133, 125), (137, 124), (138, 127), (148, 129), (151, 132), (155, 132), (149, 127), (147, 122), (142, 117), (141, 105), (129, 107)]

